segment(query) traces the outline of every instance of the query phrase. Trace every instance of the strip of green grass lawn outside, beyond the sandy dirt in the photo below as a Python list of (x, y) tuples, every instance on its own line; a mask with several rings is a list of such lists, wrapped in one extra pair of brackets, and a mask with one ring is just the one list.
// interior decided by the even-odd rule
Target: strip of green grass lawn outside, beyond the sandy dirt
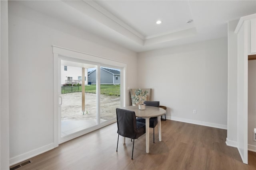
[[(61, 93), (72, 93), (72, 92), (81, 92), (82, 86), (63, 86), (61, 89)], [(85, 92), (96, 93), (96, 85), (85, 86)], [(100, 94), (105, 94), (108, 96), (120, 96), (120, 84), (118, 85), (108, 85), (101, 84), (100, 85)]]

